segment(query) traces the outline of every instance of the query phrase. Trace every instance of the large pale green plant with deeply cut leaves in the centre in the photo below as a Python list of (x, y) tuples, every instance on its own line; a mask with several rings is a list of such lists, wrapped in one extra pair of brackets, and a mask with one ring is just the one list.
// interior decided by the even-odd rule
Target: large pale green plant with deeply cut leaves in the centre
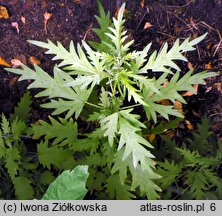
[[(43, 89), (36, 97), (47, 97), (49, 102), (42, 107), (54, 109), (53, 115), (66, 113), (61, 123), (50, 118), (51, 124), (40, 121), (33, 125), (34, 137), (44, 137), (38, 145), (43, 155), (39, 160), (44, 166), (61, 165), (61, 155), (72, 164), (74, 154), (75, 165), (89, 165), (87, 185), (97, 198), (130, 199), (139, 191), (142, 197), (156, 199), (161, 189), (154, 181), (160, 175), (155, 172), (152, 145), (143, 138), (145, 125), (135, 108), (144, 110), (147, 119), (154, 122), (158, 114), (166, 119), (169, 115), (182, 118), (172, 105), (161, 105), (159, 101), (185, 103), (179, 92), (194, 91), (193, 84), (204, 84), (205, 78), (216, 73), (193, 74), (190, 70), (180, 78), (180, 68), (175, 63), (187, 61), (184, 53), (195, 50), (194, 45), (206, 34), (191, 41), (187, 38), (181, 44), (177, 40), (169, 50), (165, 43), (159, 53), (154, 51), (150, 56), (151, 43), (142, 51), (130, 51), (133, 41), (128, 40), (124, 30), (124, 8), (125, 4), (111, 22), (99, 2), (100, 28), (94, 31), (101, 41), (91, 42), (95, 50), (85, 41), (77, 47), (71, 42), (69, 51), (59, 42), (29, 41), (46, 48), (47, 54), (54, 54), (53, 60), (62, 60), (54, 67), (53, 77), (37, 65), (34, 70), (24, 64), (21, 69), (7, 70), (21, 75), (20, 81), (33, 80), (29, 89)], [(148, 78), (148, 71), (162, 75)], [(83, 115), (83, 120), (94, 122), (91, 132), (79, 131), (77, 122), (67, 120), (73, 115), (76, 119)]]

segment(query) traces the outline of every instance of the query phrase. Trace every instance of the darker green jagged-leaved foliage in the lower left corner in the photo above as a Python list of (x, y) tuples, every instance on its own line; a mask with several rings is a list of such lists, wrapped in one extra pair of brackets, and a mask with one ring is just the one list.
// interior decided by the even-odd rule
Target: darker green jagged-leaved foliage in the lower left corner
[[(3, 199), (32, 199), (40, 197), (45, 186), (54, 180), (49, 170), (39, 164), (37, 153), (30, 151), (32, 137), (28, 119), (31, 115), (31, 96), (25, 93), (6, 118), (1, 115), (0, 125), (0, 197)], [(25, 193), (24, 193), (25, 191)]]

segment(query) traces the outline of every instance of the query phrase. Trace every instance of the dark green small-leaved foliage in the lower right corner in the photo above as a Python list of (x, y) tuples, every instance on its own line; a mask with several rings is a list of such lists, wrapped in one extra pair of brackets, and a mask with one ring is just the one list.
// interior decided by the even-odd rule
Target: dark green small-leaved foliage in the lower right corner
[[(222, 162), (222, 143), (212, 136), (205, 117), (191, 138), (175, 143), (162, 137), (165, 149), (158, 162), (162, 199), (221, 199), (222, 181), (217, 172)], [(180, 146), (180, 147), (177, 147)], [(155, 154), (155, 152), (154, 152)]]

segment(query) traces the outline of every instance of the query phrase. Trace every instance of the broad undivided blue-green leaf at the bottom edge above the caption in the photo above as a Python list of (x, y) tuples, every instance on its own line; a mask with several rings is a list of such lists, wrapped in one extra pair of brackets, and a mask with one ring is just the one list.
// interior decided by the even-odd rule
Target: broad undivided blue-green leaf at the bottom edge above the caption
[(77, 166), (72, 171), (63, 171), (53, 181), (43, 200), (82, 200), (86, 195), (86, 180), (89, 175), (87, 166)]

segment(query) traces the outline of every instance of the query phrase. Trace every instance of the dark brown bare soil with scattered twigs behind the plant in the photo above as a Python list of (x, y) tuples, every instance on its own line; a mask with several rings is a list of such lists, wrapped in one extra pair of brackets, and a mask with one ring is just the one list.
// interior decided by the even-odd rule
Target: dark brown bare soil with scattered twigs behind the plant
[[(105, 9), (115, 14), (121, 0), (102, 0)], [(147, 0), (144, 7), (140, 0), (128, 0), (126, 28), (130, 37), (135, 39), (134, 49), (142, 49), (150, 41), (153, 49), (159, 49), (163, 42), (170, 45), (176, 38), (195, 38), (208, 32), (197, 51), (188, 54), (195, 71), (209, 69), (222, 71), (222, 1), (221, 0)], [(0, 19), (0, 57), (7, 62), (20, 59), (30, 66), (29, 58), (40, 60), (40, 66), (51, 73), (53, 63), (44, 50), (29, 45), (27, 40), (60, 41), (68, 46), (70, 40), (75, 43), (82, 39), (94, 40), (92, 28), (96, 27), (94, 15), (98, 14), (96, 0), (0, 0), (10, 12), (8, 19)], [(47, 34), (44, 31), (44, 13), (52, 17), (47, 23)], [(22, 23), (21, 17), (26, 18)], [(12, 27), (18, 22), (19, 34)], [(150, 22), (151, 28), (144, 29)], [(153, 50), (152, 49), (152, 50)], [(188, 70), (183, 64), (183, 73)], [(0, 66), (0, 112), (10, 113), (27, 87), (26, 82), (12, 82), (14, 75), (4, 71)], [(207, 115), (215, 134), (221, 135), (222, 129), (222, 76), (207, 80), (206, 86), (199, 86), (198, 94), (187, 97), (186, 119), (193, 124)], [(41, 99), (35, 99), (33, 118), (45, 118), (49, 111), (39, 108)]]

